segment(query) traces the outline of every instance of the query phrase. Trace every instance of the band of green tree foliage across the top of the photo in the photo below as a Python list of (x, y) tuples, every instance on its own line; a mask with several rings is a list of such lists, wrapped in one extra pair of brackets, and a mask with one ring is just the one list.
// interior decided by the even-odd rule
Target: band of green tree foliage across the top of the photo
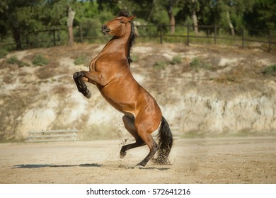
[[(52, 45), (52, 33), (39, 33), (37, 35), (31, 33), (53, 28), (64, 29), (58, 34), (58, 37), (63, 40), (59, 44), (64, 44), (64, 40), (67, 40), (69, 6), (76, 11), (74, 36), (79, 39), (79, 27), (82, 25), (84, 37), (90, 37), (93, 42), (95, 42), (93, 37), (101, 35), (100, 25), (110, 21), (122, 10), (137, 16), (136, 21), (140, 22), (141, 25), (154, 24), (155, 26), (152, 27), (140, 26), (137, 28), (140, 36), (152, 35), (152, 38), (160, 33), (160, 28), (156, 28), (156, 24), (168, 25), (170, 23), (168, 17), (170, 11), (178, 25), (187, 23), (192, 25), (192, 13), (196, 14), (198, 25), (217, 24), (220, 27), (218, 35), (229, 34), (229, 22), (234, 26), (236, 35), (241, 35), (240, 30), (243, 25), (246, 25), (248, 29), (276, 28), (275, 0), (1, 0), (1, 44), (9, 44), (11, 42), (6, 41), (13, 40), (16, 43), (16, 50), (21, 50), (25, 47), (25, 40), (28, 40), (28, 47), (47, 47)], [(169, 30), (169, 27), (163, 26), (163, 35), (168, 34)], [(213, 29), (202, 28), (200, 31), (206, 32), (207, 35), (214, 35)], [(263, 34), (263, 32), (253, 32), (252, 30), (249, 30), (248, 33), (251, 35)], [(184, 34), (184, 30), (175, 34)], [(49, 43), (42, 44), (45, 41)], [(174, 41), (173, 37), (168, 39), (168, 42), (171, 41)], [(2, 54), (3, 52), (0, 52), (0, 57), (4, 56)]]

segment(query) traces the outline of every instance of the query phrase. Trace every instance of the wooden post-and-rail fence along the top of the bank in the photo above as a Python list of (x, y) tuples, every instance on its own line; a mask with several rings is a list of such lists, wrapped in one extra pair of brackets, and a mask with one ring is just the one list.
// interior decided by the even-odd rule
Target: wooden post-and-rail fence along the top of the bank
[[(231, 41), (235, 44), (227, 44), (227, 45), (238, 45), (239, 47), (246, 47), (246, 43), (258, 43), (259, 45), (265, 45), (269, 52), (271, 52), (272, 45), (276, 46), (276, 30), (253, 30), (255, 33), (258, 33), (260, 36), (250, 36), (248, 35), (249, 31), (245, 28), (235, 29), (236, 35), (232, 36), (227, 33), (230, 32), (225, 28), (219, 27), (217, 25), (198, 25), (197, 28), (200, 29), (200, 34), (195, 35), (192, 25), (175, 25), (176, 33), (171, 34), (166, 31), (169, 29), (171, 25), (136, 25), (135, 27), (138, 30), (145, 30), (144, 34), (139, 34), (137, 36), (137, 40), (143, 40), (144, 38), (149, 38), (149, 40), (157, 40), (159, 43), (167, 42), (171, 38), (169, 42), (182, 42), (186, 45), (190, 45), (193, 42), (200, 42), (204, 44), (204, 40), (209, 40), (209, 44), (217, 45), (219, 40)], [(146, 29), (151, 29), (147, 31)], [(181, 29), (181, 30), (180, 30)], [(106, 42), (110, 37), (105, 37), (103, 35), (88, 35), (87, 32), (89, 30), (93, 30), (94, 32), (100, 33), (100, 27), (89, 27), (84, 28), (82, 26), (74, 28), (74, 40), (75, 42)], [(179, 31), (180, 30), (180, 31)], [(224, 30), (224, 33), (219, 33)], [(39, 37), (40, 34), (44, 34), (45, 38), (40, 38), (38, 40), (33, 41), (31, 37)], [(45, 36), (45, 34), (47, 36)], [(178, 38), (178, 40), (173, 41), (173, 39)], [(52, 30), (43, 30), (35, 33), (28, 33), (27, 35), (22, 35), (21, 44), (24, 46), (24, 49), (34, 48), (34, 47), (43, 47), (42, 44), (46, 43), (45, 47), (56, 46), (56, 45), (67, 45), (68, 34), (67, 28), (54, 28)], [(210, 40), (212, 40), (210, 42)], [(41, 45), (40, 45), (41, 44)], [(1, 43), (0, 47), (5, 46), (14, 46), (16, 43)], [(222, 44), (223, 45), (223, 44)], [(248, 45), (250, 46), (250, 45)]]

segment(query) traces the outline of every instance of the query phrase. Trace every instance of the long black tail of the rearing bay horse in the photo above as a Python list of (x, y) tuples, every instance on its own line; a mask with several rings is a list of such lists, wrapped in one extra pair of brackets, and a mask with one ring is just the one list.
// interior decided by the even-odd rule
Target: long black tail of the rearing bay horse
[(168, 163), (168, 155), (171, 152), (171, 146), (173, 146), (173, 134), (171, 134), (170, 126), (165, 117), (162, 117), (161, 127), (158, 133), (159, 139), (159, 151), (158, 156), (154, 160), (156, 163), (166, 164)]

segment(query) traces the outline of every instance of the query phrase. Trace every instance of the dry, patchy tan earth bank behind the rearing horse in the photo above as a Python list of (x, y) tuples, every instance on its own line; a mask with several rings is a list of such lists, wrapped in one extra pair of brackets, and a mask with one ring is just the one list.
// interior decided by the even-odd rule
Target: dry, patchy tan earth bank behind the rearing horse
[[(28, 50), (0, 60), (0, 139), (23, 139), (30, 131), (79, 129), (81, 139), (114, 138), (127, 132), (122, 114), (93, 85), (90, 100), (74, 85), (72, 74), (86, 70), (74, 59), (95, 57), (102, 45), (75, 45)], [(94, 50), (95, 49), (95, 50)], [(34, 54), (50, 59), (46, 66), (8, 64)], [(137, 45), (132, 50), (134, 78), (156, 98), (171, 127), (180, 135), (222, 135), (239, 132), (275, 134), (275, 76), (262, 74), (275, 64), (261, 50), (185, 45)], [(171, 63), (173, 57), (180, 62)], [(197, 66), (192, 62), (201, 62)]]

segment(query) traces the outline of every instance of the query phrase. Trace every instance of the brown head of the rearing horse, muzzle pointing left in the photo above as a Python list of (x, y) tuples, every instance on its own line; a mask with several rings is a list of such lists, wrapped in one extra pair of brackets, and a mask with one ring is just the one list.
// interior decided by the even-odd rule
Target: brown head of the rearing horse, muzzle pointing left
[(132, 21), (134, 20), (135, 16), (119, 16), (114, 18), (113, 20), (109, 21), (102, 25), (102, 32), (105, 35), (114, 35), (117, 37), (121, 37), (125, 35), (127, 28), (131, 27)]

